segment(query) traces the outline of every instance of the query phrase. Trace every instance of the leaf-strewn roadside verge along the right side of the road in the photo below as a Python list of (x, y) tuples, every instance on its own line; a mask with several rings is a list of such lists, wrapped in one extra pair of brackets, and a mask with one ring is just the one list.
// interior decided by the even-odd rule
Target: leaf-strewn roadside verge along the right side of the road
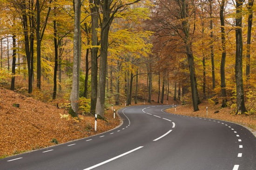
[[(198, 105), (199, 111), (194, 112), (192, 105), (177, 106), (175, 108), (166, 109), (168, 113), (182, 114), (195, 117), (207, 117), (211, 119), (225, 120), (234, 123), (238, 123), (242, 126), (248, 127), (248, 129), (256, 136), (256, 115), (246, 114), (231, 114), (232, 109), (229, 107), (221, 108), (221, 104), (212, 105), (208, 101), (203, 101)], [(208, 107), (208, 116), (206, 115), (206, 107)]]

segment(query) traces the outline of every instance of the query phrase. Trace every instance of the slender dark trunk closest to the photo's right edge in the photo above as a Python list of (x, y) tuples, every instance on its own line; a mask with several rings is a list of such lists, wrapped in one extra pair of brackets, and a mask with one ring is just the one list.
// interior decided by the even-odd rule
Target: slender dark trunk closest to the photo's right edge
[(249, 0), (248, 2), (248, 29), (247, 29), (247, 45), (246, 45), (246, 71), (245, 75), (247, 80), (250, 78), (250, 44), (251, 44), (251, 28), (252, 28), (252, 17), (253, 17), (253, 6), (254, 0)]

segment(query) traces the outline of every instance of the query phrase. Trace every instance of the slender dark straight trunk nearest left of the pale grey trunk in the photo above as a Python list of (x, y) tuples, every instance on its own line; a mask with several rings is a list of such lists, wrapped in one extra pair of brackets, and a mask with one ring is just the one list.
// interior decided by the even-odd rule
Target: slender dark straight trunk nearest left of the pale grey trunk
[[(54, 17), (56, 17), (56, 7), (54, 6)], [(58, 70), (58, 43), (57, 43), (57, 26), (54, 19), (54, 93), (53, 100), (56, 99), (57, 94), (57, 70)]]

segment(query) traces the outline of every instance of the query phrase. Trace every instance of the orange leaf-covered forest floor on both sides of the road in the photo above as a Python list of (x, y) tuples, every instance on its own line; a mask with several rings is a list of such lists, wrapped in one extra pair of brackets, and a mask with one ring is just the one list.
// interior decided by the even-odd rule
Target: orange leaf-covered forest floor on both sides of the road
[[(153, 96), (152, 99), (155, 99)], [(165, 101), (166, 102), (166, 101)], [(177, 104), (169, 100), (165, 104)], [(19, 107), (17, 106), (19, 104)], [(144, 102), (137, 105), (143, 105)], [(149, 103), (145, 103), (146, 105)], [(151, 104), (159, 104), (152, 101)], [(134, 105), (134, 104), (132, 104)], [(256, 115), (232, 115), (230, 108), (210, 106), (204, 101), (199, 105), (200, 111), (193, 112), (192, 105), (178, 106), (167, 109), (170, 113), (206, 117), (206, 106), (209, 107), (208, 118), (227, 120), (256, 130)], [(124, 107), (114, 106), (115, 110)], [(214, 113), (219, 110), (219, 113)], [(67, 114), (67, 109), (57, 108), (51, 104), (34, 100), (31, 97), (0, 88), (0, 158), (25, 151), (37, 150), (86, 138), (101, 132), (106, 132), (119, 126), (121, 119), (113, 119), (113, 111), (105, 112), (105, 120), (97, 121), (97, 132), (94, 132), (94, 116), (79, 115), (79, 119)]]

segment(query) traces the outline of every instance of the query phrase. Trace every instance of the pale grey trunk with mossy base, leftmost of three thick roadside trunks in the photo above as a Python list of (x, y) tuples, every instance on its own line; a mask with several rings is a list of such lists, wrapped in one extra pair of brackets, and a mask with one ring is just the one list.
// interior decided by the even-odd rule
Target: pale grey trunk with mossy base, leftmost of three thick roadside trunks
[(72, 90), (70, 94), (69, 114), (77, 116), (79, 108), (79, 75), (81, 61), (81, 0), (74, 0), (74, 57), (73, 57), (73, 77)]

